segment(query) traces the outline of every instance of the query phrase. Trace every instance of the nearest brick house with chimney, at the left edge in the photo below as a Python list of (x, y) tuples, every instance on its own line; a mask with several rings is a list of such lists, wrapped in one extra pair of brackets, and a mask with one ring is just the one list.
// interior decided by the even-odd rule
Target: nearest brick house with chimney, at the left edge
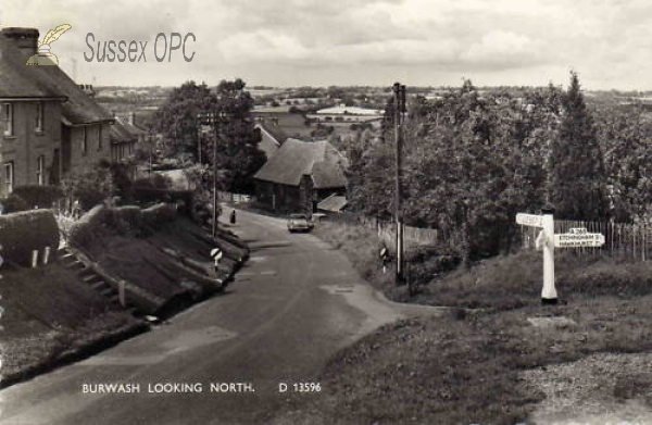
[(59, 66), (26, 66), (33, 28), (0, 32), (0, 196), (110, 159), (112, 116)]

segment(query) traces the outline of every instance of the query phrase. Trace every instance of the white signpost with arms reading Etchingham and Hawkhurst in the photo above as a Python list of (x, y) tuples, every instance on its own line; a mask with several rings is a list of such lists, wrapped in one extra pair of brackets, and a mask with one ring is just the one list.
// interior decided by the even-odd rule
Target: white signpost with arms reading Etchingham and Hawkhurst
[(554, 249), (602, 247), (604, 235), (590, 234), (586, 228), (572, 228), (566, 234), (554, 234), (554, 216), (551, 210), (543, 211), (542, 215), (516, 214), (516, 223), (523, 226), (538, 227), (542, 230), (537, 237), (537, 249), (543, 250), (543, 289), (541, 302), (556, 304), (557, 296), (554, 287)]

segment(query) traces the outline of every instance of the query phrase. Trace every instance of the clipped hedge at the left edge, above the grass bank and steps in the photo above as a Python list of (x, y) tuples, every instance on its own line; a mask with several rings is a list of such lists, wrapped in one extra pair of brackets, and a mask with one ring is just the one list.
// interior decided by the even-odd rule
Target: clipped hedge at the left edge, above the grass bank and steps
[(59, 227), (52, 210), (0, 215), (1, 254), (17, 264), (29, 265), (34, 250), (42, 252), (46, 247), (50, 247), (54, 251), (59, 247)]

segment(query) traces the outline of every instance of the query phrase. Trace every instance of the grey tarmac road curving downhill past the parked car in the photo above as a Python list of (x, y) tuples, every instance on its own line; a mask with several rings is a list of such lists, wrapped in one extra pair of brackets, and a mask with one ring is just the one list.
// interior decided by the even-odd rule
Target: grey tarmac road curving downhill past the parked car
[[(294, 393), (292, 384), (318, 383), (338, 349), (381, 324), (429, 314), (385, 300), (339, 251), (313, 235), (289, 234), (285, 221), (241, 211), (233, 229), (252, 252), (224, 295), (0, 391), (0, 424), (264, 423), (293, 398), (318, 397)], [(288, 392), (279, 392), (281, 383)], [(99, 392), (109, 384), (123, 387)]]

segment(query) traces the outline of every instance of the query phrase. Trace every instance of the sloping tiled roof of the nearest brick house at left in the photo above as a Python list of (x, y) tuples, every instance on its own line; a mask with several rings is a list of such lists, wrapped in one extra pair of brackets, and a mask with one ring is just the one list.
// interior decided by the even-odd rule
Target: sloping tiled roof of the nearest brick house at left
[(68, 125), (112, 121), (59, 66), (27, 66), (25, 52), (0, 36), (0, 98), (58, 98)]

